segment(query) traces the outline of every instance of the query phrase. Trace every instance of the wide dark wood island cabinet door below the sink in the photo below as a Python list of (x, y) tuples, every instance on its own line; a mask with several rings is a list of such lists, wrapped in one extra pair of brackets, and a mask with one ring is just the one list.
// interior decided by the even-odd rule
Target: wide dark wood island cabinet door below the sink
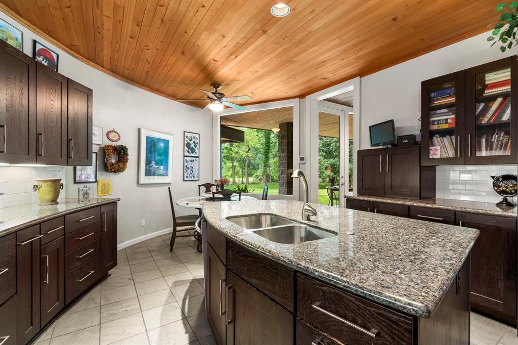
[(227, 270), (226, 344), (293, 344), (293, 315)]

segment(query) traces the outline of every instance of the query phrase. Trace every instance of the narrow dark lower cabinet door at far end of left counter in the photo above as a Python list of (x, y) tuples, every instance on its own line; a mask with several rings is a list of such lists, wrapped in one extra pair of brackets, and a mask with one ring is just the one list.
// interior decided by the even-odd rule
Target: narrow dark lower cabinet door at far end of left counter
[(117, 266), (117, 203), (103, 205), (101, 215), (101, 276)]

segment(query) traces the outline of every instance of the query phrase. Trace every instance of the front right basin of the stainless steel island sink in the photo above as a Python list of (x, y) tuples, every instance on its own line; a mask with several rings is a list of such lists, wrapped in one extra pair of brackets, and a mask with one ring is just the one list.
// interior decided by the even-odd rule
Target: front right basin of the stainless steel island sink
[(270, 241), (286, 244), (314, 241), (322, 238), (336, 236), (336, 234), (303, 224), (291, 224), (286, 226), (259, 229), (253, 233)]

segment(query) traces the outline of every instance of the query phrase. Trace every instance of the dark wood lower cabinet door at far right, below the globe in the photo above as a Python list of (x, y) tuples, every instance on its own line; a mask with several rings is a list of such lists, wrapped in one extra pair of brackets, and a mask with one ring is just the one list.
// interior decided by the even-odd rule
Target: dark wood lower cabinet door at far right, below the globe
[(471, 308), (516, 323), (516, 219), (456, 212), (457, 225), (479, 229), (471, 250)]

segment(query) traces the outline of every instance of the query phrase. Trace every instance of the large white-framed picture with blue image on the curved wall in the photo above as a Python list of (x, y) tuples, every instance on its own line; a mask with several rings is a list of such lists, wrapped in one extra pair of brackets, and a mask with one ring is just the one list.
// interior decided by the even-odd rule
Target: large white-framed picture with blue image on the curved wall
[(171, 183), (174, 136), (146, 128), (138, 131), (138, 183)]

